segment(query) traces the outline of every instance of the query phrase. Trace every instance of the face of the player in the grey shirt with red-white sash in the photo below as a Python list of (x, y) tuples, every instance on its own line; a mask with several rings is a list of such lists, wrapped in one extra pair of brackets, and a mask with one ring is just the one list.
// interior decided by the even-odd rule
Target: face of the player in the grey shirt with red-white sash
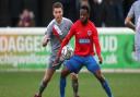
[(54, 17), (57, 22), (61, 22), (62, 19), (62, 9), (61, 8), (55, 8), (54, 9)]

